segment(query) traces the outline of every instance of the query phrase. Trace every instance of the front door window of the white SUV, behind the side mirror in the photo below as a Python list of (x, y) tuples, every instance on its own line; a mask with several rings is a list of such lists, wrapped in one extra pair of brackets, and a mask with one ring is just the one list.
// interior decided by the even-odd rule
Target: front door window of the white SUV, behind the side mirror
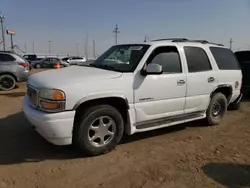
[(148, 60), (162, 66), (164, 73), (181, 73), (181, 61), (176, 47), (159, 47), (153, 51)]

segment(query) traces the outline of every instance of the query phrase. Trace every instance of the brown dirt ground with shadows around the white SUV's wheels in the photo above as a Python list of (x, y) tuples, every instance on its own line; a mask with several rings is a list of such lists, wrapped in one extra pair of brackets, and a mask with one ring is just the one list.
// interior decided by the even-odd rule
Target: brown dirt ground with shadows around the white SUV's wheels
[(250, 187), (250, 100), (223, 123), (202, 122), (125, 137), (87, 158), (47, 143), (21, 112), (25, 83), (0, 92), (0, 188)]

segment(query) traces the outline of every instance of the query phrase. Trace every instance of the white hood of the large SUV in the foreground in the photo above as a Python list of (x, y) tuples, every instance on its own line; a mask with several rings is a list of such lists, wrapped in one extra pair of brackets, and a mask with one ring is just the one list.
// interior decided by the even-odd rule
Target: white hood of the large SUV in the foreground
[(114, 72), (94, 67), (71, 66), (62, 69), (48, 70), (29, 77), (28, 84), (36, 88), (57, 88), (68, 84), (87, 81), (118, 78), (120, 72)]

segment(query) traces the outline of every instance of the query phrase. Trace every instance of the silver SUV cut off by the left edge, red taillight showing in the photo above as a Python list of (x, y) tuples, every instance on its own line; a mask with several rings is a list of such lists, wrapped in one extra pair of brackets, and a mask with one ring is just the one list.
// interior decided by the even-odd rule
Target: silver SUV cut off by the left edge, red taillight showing
[(23, 57), (9, 51), (0, 51), (0, 90), (12, 90), (16, 82), (27, 81), (29, 63)]

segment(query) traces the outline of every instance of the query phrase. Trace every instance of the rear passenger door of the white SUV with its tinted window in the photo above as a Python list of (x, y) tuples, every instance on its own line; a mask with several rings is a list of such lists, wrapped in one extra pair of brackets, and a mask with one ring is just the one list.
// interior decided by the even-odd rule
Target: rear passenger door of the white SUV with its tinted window
[(205, 111), (210, 94), (217, 87), (216, 72), (205, 49), (184, 46), (184, 54), (188, 68), (185, 113)]

